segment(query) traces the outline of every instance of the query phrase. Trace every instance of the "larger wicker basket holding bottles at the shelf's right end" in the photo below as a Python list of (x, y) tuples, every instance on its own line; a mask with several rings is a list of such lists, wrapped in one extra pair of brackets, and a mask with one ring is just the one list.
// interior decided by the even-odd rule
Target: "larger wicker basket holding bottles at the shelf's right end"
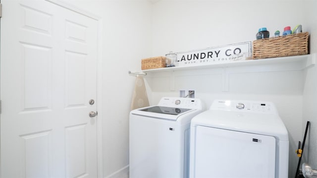
[(253, 59), (308, 54), (308, 32), (253, 41)]

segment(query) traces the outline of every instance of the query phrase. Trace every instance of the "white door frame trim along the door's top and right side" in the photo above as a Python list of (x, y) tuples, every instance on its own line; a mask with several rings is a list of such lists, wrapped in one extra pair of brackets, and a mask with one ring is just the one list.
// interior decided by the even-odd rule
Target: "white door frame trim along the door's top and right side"
[[(84, 16), (87, 16), (89, 18), (92, 18), (94, 20), (98, 21), (98, 39), (97, 39), (97, 111), (98, 116), (97, 118), (97, 176), (98, 178), (103, 178), (103, 112), (102, 112), (102, 84), (103, 84), (103, 67), (102, 67), (102, 17), (95, 15), (91, 12), (88, 12), (86, 10), (80, 9), (76, 7), (76, 5), (62, 1), (62, 0), (45, 0), (48, 2), (51, 2), (55, 5), (58, 5), (60, 7), (72, 10), (76, 13), (82, 14)], [(0, 34), (1, 35), (1, 34)], [(0, 96), (1, 97), (1, 96)], [(1, 147), (1, 145), (0, 145)], [(0, 155), (1, 159), (1, 155)], [(0, 177), (1, 177), (1, 165), (0, 165)]]

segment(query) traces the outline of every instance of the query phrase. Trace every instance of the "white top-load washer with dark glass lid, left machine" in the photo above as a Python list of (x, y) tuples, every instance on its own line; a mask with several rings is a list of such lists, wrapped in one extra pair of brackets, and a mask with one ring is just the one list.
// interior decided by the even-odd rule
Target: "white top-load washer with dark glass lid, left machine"
[(130, 113), (130, 178), (188, 178), (189, 128), (196, 98), (164, 97)]

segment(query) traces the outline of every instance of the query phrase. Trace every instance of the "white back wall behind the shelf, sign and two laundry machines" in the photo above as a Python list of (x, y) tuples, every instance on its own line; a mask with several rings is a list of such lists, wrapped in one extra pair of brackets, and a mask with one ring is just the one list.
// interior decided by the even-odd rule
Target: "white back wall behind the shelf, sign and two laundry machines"
[[(316, 6), (311, 9), (317, 10)], [(266, 27), (272, 36), (276, 30), (282, 32), (285, 26), (304, 25), (306, 18), (309, 17), (302, 0), (163, 0), (153, 5), (153, 56), (253, 41), (261, 27)], [(309, 23), (306, 25), (304, 31)], [(156, 104), (162, 96), (178, 96), (179, 89), (196, 90), (195, 96), (207, 107), (219, 98), (272, 101), (289, 132), (289, 177), (294, 177), (298, 162), (294, 150), (303, 132), (305, 72), (226, 68), (232, 73), (228, 79), (229, 91), (223, 91), (221, 71), (216, 70), (222, 69), (175, 72), (175, 91), (170, 91), (170, 74), (147, 77), (151, 104)]]

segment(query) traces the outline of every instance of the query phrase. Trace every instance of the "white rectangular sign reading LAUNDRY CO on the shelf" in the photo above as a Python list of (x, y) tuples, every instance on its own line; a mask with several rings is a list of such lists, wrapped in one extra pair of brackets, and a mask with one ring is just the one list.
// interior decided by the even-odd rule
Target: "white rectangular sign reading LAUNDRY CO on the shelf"
[(178, 66), (245, 60), (251, 56), (251, 42), (175, 53)]

